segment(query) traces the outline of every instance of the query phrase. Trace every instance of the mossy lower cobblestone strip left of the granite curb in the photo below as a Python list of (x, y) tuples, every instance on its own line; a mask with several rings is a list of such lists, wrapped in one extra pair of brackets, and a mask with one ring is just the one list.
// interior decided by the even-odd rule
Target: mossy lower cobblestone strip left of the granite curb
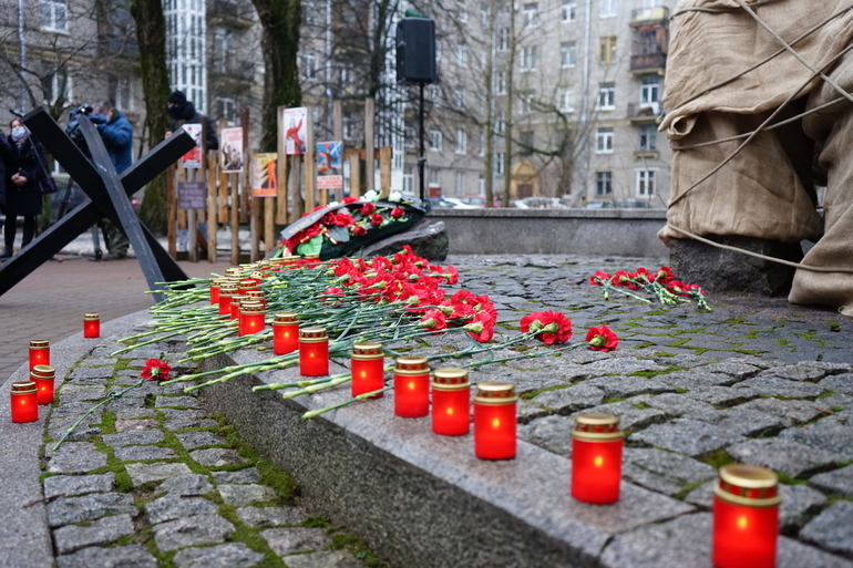
[(358, 540), (295, 506), (287, 474), (181, 385), (131, 389), (54, 452), (95, 401), (138, 382), (145, 358), (192, 370), (176, 363), (176, 343), (110, 355), (121, 347), (105, 341), (79, 361), (47, 423), (42, 478), (59, 568), (366, 566), (357, 556), (372, 556)]

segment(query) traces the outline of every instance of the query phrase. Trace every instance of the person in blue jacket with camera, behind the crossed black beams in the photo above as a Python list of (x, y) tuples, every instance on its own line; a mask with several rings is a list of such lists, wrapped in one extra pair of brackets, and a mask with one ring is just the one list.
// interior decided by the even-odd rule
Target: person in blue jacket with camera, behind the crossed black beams
[[(99, 101), (93, 105), (92, 111), (93, 114), (89, 118), (97, 127), (106, 154), (115, 172), (121, 175), (133, 164), (133, 125), (109, 101)], [(103, 218), (100, 225), (106, 241), (107, 252), (104, 260), (126, 257), (131, 244), (124, 233), (107, 218)]]

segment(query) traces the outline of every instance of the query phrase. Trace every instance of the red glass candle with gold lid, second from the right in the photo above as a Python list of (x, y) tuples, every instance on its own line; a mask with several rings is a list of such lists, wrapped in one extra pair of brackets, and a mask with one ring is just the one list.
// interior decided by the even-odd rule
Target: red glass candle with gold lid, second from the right
[(619, 417), (582, 414), (572, 431), (572, 496), (604, 505), (619, 500), (621, 448), (625, 436)]

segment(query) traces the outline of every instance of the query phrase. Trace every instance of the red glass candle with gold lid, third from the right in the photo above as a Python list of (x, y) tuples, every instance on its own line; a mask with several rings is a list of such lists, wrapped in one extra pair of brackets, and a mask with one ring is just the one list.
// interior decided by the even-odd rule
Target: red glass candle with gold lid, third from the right
[(512, 459), (516, 446), (515, 386), (484, 381), (474, 396), (474, 454), (480, 459)]

